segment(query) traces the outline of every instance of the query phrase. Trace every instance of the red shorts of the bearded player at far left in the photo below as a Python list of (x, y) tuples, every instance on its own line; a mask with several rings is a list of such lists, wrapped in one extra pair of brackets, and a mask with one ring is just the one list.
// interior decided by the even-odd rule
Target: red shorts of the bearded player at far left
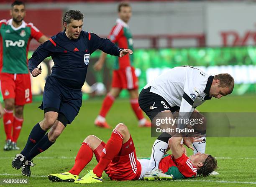
[(32, 102), (30, 75), (0, 73), (3, 99), (15, 99), (15, 105)]

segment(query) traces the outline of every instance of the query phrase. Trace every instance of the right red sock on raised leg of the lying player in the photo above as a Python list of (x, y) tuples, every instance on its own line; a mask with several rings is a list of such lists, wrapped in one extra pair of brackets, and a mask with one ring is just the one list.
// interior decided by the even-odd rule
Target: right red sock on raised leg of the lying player
[(97, 175), (97, 177), (101, 177), (103, 171), (108, 167), (108, 164), (112, 161), (112, 159), (118, 155), (122, 148), (123, 144), (123, 136), (116, 129), (113, 130), (110, 139), (108, 140), (105, 149), (103, 149), (103, 153), (100, 158), (100, 162), (93, 169), (93, 173)]

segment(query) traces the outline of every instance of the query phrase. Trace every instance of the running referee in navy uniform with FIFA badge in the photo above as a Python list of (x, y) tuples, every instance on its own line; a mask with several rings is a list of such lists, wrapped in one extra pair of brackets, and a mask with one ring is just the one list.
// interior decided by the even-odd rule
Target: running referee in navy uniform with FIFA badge
[(118, 48), (107, 38), (82, 31), (83, 17), (78, 10), (67, 11), (62, 20), (65, 30), (41, 44), (28, 61), (33, 77), (41, 74), (42, 70), (37, 66), (46, 57), (51, 56), (54, 66), (46, 79), (43, 102), (39, 106), (44, 110), (44, 119), (33, 127), (26, 146), (12, 162), (15, 169), (22, 167), (21, 172), (27, 177), (34, 165), (31, 160), (51, 147), (66, 125), (77, 116), (90, 55), (97, 49), (119, 57), (133, 53), (130, 49)]

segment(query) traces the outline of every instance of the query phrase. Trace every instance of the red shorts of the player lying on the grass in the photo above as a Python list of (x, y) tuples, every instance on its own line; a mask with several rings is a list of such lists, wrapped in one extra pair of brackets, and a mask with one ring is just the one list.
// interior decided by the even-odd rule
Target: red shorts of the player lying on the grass
[[(102, 154), (104, 147), (105, 143), (102, 142), (99, 149), (95, 149), (98, 156)], [(137, 160), (132, 137), (122, 145), (118, 156), (114, 157), (105, 172), (111, 180), (138, 180), (141, 164)]]

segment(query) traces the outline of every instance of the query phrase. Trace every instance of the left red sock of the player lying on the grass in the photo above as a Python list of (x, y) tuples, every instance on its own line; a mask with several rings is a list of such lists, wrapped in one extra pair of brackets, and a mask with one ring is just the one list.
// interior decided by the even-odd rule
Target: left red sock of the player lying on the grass
[(74, 175), (79, 175), (79, 173), (84, 169), (84, 167), (92, 160), (93, 152), (89, 144), (82, 143), (80, 147), (77, 157), (75, 159), (75, 164), (70, 169), (69, 173)]

